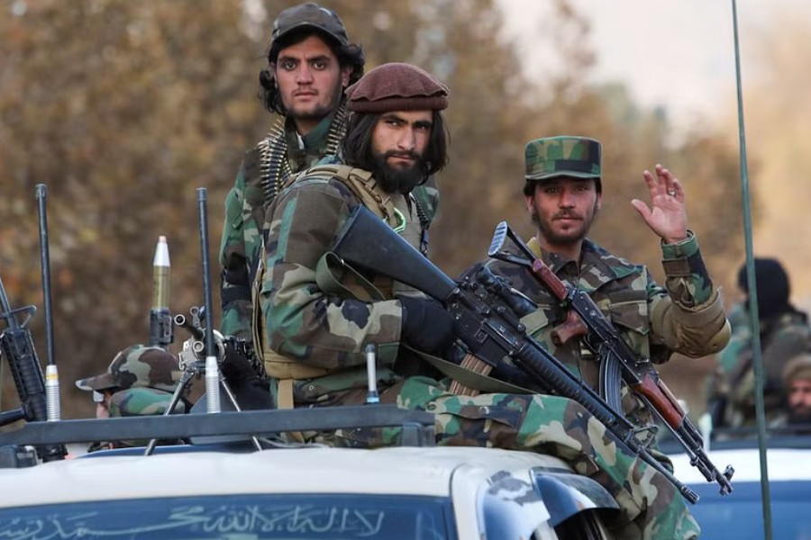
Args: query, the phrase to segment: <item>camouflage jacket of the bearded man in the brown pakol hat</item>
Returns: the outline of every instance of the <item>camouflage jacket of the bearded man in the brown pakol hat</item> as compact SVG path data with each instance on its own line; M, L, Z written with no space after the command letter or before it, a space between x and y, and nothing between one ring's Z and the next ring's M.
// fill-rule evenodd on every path
M399 234L418 247L421 227L414 201L410 195L384 195L405 217ZM264 267L255 284L261 311L258 322L264 334L257 336L263 343L255 345L263 351L266 366L269 352L275 352L305 374L288 377L295 380L296 404L342 401L342 392L366 388L362 348L368 344L378 347L381 390L397 380L391 368L399 354L402 306L393 298L413 295L415 290L388 278L364 275L383 299L377 300L363 298L350 273L336 277L346 290L325 292L323 282L316 280L316 266L360 203L342 180L313 172L296 178L267 212Z

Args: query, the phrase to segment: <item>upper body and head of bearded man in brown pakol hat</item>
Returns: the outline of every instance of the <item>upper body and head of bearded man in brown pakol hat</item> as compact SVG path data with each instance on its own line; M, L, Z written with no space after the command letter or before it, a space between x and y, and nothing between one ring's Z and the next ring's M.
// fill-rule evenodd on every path
M271 391L279 406L343 401L365 388L364 345L378 346L382 389L396 381L401 341L437 352L452 338L442 307L412 298L416 292L403 284L383 280L378 288L387 300L360 302L323 291L316 279L319 261L358 204L419 248L414 190L447 162L448 88L420 67L376 67L346 95L350 116L340 162L291 179L265 217L254 345L275 378ZM279 381L286 389L281 395Z

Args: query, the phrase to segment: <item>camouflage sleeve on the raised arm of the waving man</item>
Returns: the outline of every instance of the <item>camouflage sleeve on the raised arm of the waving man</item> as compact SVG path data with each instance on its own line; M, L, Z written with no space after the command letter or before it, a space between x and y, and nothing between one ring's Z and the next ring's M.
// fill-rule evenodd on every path
M676 244L662 244L665 293L648 282L654 336L685 356L716 354L729 342L724 303L710 279L692 231Z

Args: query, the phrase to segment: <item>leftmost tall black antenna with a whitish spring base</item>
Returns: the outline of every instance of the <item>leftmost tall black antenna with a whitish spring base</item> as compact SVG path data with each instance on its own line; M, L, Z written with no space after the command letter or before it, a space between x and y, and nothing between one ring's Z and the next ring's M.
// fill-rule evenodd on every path
M61 418L59 404L59 372L53 346L53 311L50 302L50 254L48 250L48 213L45 207L47 188L37 184L37 212L40 217L40 263L42 267L42 303L45 307L45 409L49 422Z

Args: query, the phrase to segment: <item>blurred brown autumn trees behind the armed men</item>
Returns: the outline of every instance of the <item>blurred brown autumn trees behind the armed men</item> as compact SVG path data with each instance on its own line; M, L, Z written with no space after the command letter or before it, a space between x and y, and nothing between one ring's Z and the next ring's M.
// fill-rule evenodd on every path
M93 414L77 378L148 341L159 235L169 239L172 311L202 304L198 187L207 189L219 283L224 197L242 152L269 128L257 75L270 24L292 4L0 0L0 274L15 307L41 307L34 192L47 184L64 418ZM588 22L565 0L554 2L548 22L565 69L543 85L528 82L514 43L501 37L495 0L322 4L364 46L367 69L408 61L451 87L451 165L439 178L442 208L432 228L433 258L447 273L485 257L500 220L532 235L521 195L524 142L583 134L604 147L604 209L593 238L661 279L658 242L629 203L647 199L642 170L661 162L686 186L690 227L711 272L732 286L727 276L743 259L743 243L729 241L742 228L731 128L702 126L672 143L665 111L633 103L622 85L586 85L596 52ZM32 331L44 363L42 311ZM178 329L175 347L185 338ZM708 364L679 365L688 367L667 368L671 387L695 391L689 379ZM17 398L3 369L8 410Z

